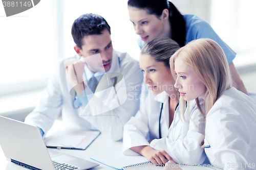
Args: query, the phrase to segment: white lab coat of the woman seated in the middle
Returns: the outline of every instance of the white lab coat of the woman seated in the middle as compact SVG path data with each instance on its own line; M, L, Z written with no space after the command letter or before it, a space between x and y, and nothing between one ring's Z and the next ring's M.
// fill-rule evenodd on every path
M154 95L151 90L144 87L141 92L140 110L124 125L123 154L138 155L130 148L150 145L155 150L165 150L177 163L203 163L205 153L200 144L204 139L205 119L197 109L195 101L190 102L187 107L190 108L191 118L197 126L189 119L187 112L185 120L182 117L182 122L178 107L169 127L168 94L164 91ZM146 94L147 98L143 98ZM162 103L160 120L162 138L159 139L159 116ZM150 139L154 140L149 143Z

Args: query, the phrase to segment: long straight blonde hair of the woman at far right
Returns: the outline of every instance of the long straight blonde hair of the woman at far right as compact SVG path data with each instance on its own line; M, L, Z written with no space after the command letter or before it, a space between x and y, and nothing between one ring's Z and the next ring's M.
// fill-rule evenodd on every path
M214 40L202 38L189 42L180 48L170 58L170 68L174 75L174 63L179 57L184 63L191 66L196 76L206 86L203 108L199 99L196 99L197 107L206 117L207 113L223 92L232 87L232 79L228 62L221 46ZM181 114L184 116L185 100L180 98Z

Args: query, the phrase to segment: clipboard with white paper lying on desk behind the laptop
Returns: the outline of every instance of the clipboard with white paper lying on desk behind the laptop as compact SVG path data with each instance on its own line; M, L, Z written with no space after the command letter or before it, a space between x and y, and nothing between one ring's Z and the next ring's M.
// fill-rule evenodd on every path
M99 134L99 131L57 131L45 138L45 143L48 148L86 150Z

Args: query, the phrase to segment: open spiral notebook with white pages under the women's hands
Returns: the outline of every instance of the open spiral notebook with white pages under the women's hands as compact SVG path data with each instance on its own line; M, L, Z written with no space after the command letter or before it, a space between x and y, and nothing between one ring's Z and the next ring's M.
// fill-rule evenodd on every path
M114 169L118 170L143 170L143 169L156 169L160 170L164 168L164 165L154 165L150 161L148 161L145 157L141 155L136 155L136 156L124 156L122 154L122 151L119 152L113 152L113 153L108 153L108 154L103 154L103 155L97 155L91 157L92 160L95 160L101 164L104 164L106 166L110 166ZM193 169L207 169L207 170L214 170L214 169L220 169L217 167L209 166L207 165L179 165L180 168L184 170L188 170L191 168Z

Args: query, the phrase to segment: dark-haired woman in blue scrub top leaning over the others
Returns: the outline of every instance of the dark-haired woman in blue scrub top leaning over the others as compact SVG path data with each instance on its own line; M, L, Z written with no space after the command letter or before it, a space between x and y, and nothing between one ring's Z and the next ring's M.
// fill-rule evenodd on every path
M136 34L140 36L138 39L140 48L159 37L172 38L181 47L194 39L210 38L222 47L237 89L248 95L232 62L236 53L221 40L206 21L196 15L182 15L171 2L166 0L129 0L127 4L130 20L133 22Z

